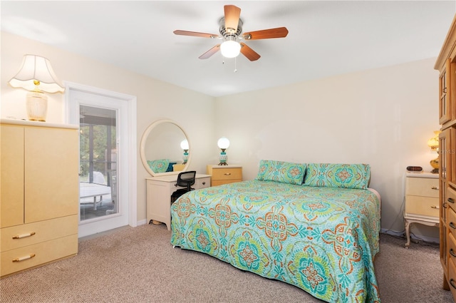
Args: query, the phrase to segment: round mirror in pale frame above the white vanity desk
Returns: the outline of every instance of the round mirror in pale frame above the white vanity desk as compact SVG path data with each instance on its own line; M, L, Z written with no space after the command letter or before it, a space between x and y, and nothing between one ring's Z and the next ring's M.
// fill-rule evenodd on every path
M140 155L145 170L155 177L187 170L192 154L188 136L180 125L172 120L157 120L142 135Z

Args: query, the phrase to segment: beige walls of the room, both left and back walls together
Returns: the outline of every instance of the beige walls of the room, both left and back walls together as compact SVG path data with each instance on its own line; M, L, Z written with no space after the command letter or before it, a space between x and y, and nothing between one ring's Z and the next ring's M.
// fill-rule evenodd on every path
M382 195L382 228L403 230L404 171L430 170L426 142L439 128L435 59L350 73L294 85L212 98L121 68L1 33L1 118L26 118L25 91L9 87L25 53L46 56L62 81L138 98L137 142L152 121L170 118L192 140L192 169L217 163L217 139L231 140L228 163L257 175L261 159L369 163L371 187ZM49 96L48 121L61 123L63 95ZM145 183L138 150L138 221L145 222ZM419 226L419 225L418 225ZM438 237L437 229L413 232Z

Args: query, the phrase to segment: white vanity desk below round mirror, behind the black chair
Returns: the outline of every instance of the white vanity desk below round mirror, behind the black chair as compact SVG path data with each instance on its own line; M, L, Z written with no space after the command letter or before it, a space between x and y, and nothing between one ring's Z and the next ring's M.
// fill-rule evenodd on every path
M165 223L167 230L171 230L171 195L182 187L176 185L177 175L164 175L146 178L147 186L147 222ZM192 188L209 188L210 175L197 174L195 185Z

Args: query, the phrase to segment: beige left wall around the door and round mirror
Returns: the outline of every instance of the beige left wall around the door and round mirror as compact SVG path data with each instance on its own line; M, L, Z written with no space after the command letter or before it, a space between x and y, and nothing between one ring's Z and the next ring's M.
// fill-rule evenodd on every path
M131 73L100 61L47 46L43 43L1 32L1 118L26 118L26 91L9 86L9 79L19 70L26 53L45 56L51 61L61 81L79 83L137 97L138 145L138 221L145 222L145 178L149 176L140 162L141 135L150 123L168 118L185 129L192 143L191 169L206 172L208 148L214 138L214 98L169 83ZM48 94L47 122L63 123L65 115L63 94Z

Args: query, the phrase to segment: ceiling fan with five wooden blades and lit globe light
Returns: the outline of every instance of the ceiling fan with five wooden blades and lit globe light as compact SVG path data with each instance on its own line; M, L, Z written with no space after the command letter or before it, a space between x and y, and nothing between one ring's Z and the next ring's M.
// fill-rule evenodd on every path
M263 29L261 31L250 31L242 34L242 19L241 9L234 5L224 6L224 17L219 21L219 33L220 34L206 34L199 33L196 31L173 31L176 35L182 36L196 36L202 38L219 38L224 41L220 44L209 49L209 51L199 56L200 59L207 59L217 51L222 52L222 56L227 58L234 58L242 53L250 61L256 61L260 58L259 54L252 48L247 46L244 42L238 42L238 40L259 40L268 38L284 38L288 34L286 27L278 27L276 29Z

